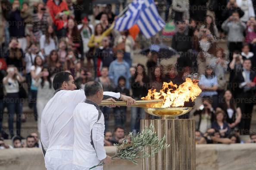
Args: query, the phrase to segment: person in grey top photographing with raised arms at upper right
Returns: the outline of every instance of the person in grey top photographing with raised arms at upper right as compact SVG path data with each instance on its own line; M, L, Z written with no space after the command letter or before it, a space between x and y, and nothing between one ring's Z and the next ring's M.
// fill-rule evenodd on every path
M246 29L246 25L239 18L238 12L233 12L232 15L224 21L222 24L222 29L225 30L228 40L228 50L229 50L229 60L232 60L232 53L235 50L241 52L243 41L244 41L244 30Z

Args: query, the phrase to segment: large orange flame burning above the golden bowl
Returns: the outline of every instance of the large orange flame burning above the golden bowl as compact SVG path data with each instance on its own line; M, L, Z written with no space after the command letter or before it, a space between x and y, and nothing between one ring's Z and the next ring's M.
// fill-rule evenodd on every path
M190 78L186 82L177 86L172 82L163 82L162 89L157 92L156 89L150 89L146 97L142 100L162 99L162 108L184 106L185 102L194 101L194 99L202 92L197 85L198 81L192 81ZM169 88L171 86L171 88ZM178 88L177 88L178 87Z

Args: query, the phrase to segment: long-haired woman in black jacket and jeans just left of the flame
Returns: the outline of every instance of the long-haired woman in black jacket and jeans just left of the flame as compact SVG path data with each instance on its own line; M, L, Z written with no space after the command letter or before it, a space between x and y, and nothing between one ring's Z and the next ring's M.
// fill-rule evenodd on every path
M132 97L140 100L141 97L147 96L150 79L146 75L144 65L137 64L135 74L131 77ZM145 117L145 111L140 107L131 107L131 131L136 134L140 128L140 119Z

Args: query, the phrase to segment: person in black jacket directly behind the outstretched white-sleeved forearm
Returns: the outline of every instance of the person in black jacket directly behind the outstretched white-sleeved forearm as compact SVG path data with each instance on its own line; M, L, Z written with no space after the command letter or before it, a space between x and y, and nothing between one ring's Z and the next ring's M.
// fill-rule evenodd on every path
M129 89L125 88L125 82L126 82L125 77L120 76L118 79L118 86L115 88L113 92L130 96ZM125 128L126 109L127 109L126 106L114 108L115 126L121 126Z

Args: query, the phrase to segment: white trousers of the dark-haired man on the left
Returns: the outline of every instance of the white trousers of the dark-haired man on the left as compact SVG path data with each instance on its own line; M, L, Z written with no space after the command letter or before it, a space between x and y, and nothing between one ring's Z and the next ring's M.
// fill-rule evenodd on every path
M72 170L73 151L51 150L44 157L47 170Z

